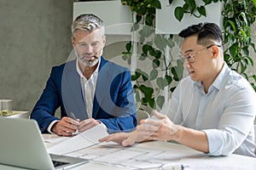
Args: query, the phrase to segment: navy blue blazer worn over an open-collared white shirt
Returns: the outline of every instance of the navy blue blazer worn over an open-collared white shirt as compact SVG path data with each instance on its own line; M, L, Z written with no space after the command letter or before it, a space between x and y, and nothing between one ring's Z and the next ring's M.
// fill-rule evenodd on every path
M86 108L76 70L76 60L52 68L44 92L34 106L31 118L38 122L42 133L49 123L71 112L81 121L87 119ZM108 127L108 133L131 131L137 125L136 105L131 87L130 71L101 58L93 101L92 117Z

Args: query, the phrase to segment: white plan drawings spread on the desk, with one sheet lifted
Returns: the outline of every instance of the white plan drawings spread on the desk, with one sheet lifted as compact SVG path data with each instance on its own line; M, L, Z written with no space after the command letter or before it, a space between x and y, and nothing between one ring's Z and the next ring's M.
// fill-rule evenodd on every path
M182 169L181 158L195 155L184 150L160 150L144 143L123 147L113 142L98 142L107 135L104 127L96 126L49 148L49 153L130 169Z

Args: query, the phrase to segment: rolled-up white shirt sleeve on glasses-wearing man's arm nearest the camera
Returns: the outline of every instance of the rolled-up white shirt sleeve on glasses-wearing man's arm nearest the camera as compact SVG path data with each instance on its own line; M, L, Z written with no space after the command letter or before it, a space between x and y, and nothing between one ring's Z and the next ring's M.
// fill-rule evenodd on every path
M224 113L220 117L218 128L203 130L207 134L209 155L212 156L228 156L239 147L250 153L255 147L252 143L253 135L250 134L256 111L255 94L248 88L239 88L230 94L232 95L224 100ZM237 153L243 154L241 150L237 150Z

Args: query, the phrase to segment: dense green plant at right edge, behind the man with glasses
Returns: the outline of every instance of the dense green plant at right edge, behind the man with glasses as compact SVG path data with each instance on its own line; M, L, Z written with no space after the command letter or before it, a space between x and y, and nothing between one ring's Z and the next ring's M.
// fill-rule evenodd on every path
M247 68L253 66L253 54L256 54L255 45L252 42L250 26L255 21L255 1L228 1L224 0L224 60L232 68L247 78L256 91L256 75L247 75Z

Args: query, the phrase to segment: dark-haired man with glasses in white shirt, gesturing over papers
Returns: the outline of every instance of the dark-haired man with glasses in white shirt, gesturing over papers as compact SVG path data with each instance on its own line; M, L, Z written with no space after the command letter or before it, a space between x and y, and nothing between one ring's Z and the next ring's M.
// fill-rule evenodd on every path
M189 26L183 37L183 66L189 71L172 93L166 112L143 120L131 133L101 139L131 145L175 140L212 156L254 154L256 95L250 83L224 62L223 38L213 23Z

